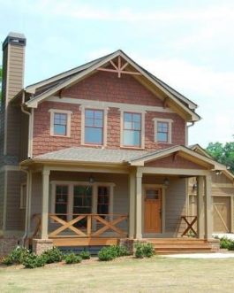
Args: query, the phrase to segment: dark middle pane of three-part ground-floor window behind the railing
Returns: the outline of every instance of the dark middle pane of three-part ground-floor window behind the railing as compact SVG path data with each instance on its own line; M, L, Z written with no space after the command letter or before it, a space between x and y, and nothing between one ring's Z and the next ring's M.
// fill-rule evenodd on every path
M92 213L93 187L88 185L75 185L73 189L73 213ZM74 215L76 218L77 215ZM87 219L79 220L77 227L87 227Z

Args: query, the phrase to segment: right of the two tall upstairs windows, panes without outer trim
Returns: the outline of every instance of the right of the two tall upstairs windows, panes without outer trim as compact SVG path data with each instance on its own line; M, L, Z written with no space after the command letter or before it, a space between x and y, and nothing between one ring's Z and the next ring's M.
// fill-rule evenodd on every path
M138 147L141 145L141 114L124 112L123 145Z

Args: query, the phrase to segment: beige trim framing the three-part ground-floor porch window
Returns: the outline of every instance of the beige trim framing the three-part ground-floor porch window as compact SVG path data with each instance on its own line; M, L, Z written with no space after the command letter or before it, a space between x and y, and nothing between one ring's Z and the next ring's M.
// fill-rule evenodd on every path
M56 209L56 186L57 185L66 185L68 186L68 201L67 201L67 213L70 213L71 216L68 217L68 220L72 220L73 213L73 195L74 195L74 186L75 185L86 185L93 187L93 197L92 197L92 212L97 213L97 190L98 186L109 187L109 213L113 213L114 208L114 188L116 186L113 182L94 182L90 183L88 181L50 181L51 184L51 213L55 213ZM71 219L70 219L71 218ZM112 219L110 219L112 220ZM51 220L53 223L54 221Z

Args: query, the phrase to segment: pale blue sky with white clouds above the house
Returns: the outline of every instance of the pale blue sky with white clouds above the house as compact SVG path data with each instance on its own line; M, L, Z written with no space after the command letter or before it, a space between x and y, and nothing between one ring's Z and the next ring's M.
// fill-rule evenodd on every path
M0 40L26 35L25 85L122 49L199 104L189 143L234 134L234 2L0 0Z

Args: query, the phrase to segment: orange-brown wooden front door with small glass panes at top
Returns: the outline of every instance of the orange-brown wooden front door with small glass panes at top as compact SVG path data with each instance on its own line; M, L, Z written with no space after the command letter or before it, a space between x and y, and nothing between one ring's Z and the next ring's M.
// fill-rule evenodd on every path
M162 189L145 188L145 233L162 232Z

